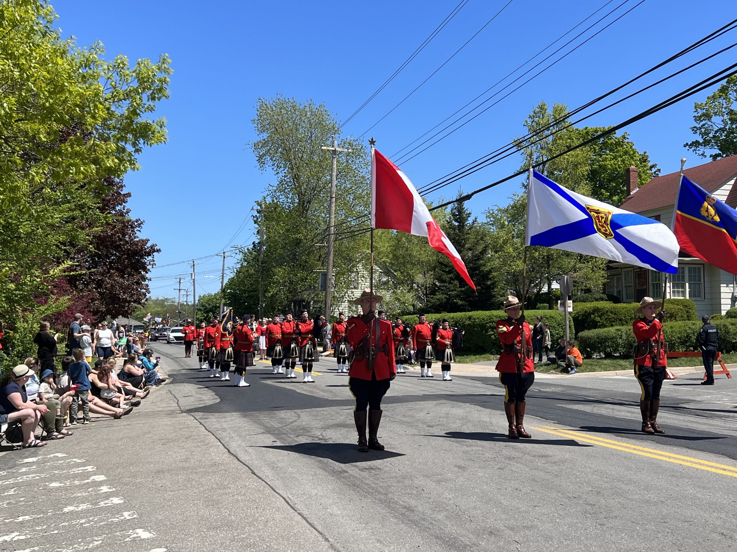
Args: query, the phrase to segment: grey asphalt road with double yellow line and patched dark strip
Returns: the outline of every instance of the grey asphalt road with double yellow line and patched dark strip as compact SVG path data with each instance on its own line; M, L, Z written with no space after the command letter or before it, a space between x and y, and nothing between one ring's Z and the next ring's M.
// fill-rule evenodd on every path
M386 450L358 453L348 377L335 363L316 364L315 383L259 364L250 387L234 388L181 358L181 346L153 347L172 380L135 417L0 458L0 550L736 548L737 383L724 376L710 388L695 374L666 382L665 436L638 432L632 378L540 376L525 417L533 439L520 441L506 439L496 378L399 376L383 403ZM56 451L69 458L50 458ZM39 475L84 481L51 465L73 458L105 467L119 489L106 499L125 506L104 507L124 519L80 522L69 510L83 500L75 493L59 494L46 477L18 479L46 463ZM43 520L19 519L34 505ZM74 531L58 532L64 523Z

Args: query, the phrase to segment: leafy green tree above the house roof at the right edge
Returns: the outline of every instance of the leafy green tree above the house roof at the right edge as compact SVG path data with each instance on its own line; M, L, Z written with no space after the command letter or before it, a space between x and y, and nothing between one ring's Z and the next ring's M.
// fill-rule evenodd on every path
M702 158L710 150L713 161L737 154L737 110L733 105L737 100L737 75L732 75L719 86L714 93L707 96L705 102L694 105L694 122L691 132L699 136L699 140L683 144Z

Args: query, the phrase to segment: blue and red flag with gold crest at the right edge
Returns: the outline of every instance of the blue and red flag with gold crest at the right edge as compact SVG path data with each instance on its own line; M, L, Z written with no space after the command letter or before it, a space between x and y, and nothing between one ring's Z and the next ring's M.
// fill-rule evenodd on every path
M682 176L673 232L683 252L737 274L737 211Z

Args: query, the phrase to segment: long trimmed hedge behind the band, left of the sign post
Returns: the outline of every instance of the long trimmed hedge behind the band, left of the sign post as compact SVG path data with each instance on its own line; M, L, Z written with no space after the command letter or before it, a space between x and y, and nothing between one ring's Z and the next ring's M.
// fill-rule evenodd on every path
M450 325L466 330L464 334L463 350L467 353L490 353L498 355L502 351L501 342L497 337L496 323L498 319L506 318L504 311L471 311L459 313L427 314L427 322L440 322L447 318ZM548 322L551 328L553 345L565 336L565 318L560 311L525 311L525 319L532 325L535 316L542 316L542 322ZM416 315L402 316L402 320L415 325L418 322ZM570 319L570 335L574 335L573 319ZM554 348L554 347L553 347Z

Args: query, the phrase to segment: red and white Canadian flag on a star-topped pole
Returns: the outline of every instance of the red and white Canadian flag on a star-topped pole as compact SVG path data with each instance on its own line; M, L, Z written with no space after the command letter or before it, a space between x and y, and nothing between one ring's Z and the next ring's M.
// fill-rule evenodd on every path
M427 237L430 247L447 256L476 291L461 255L435 222L410 179L376 149L371 153L371 227Z

